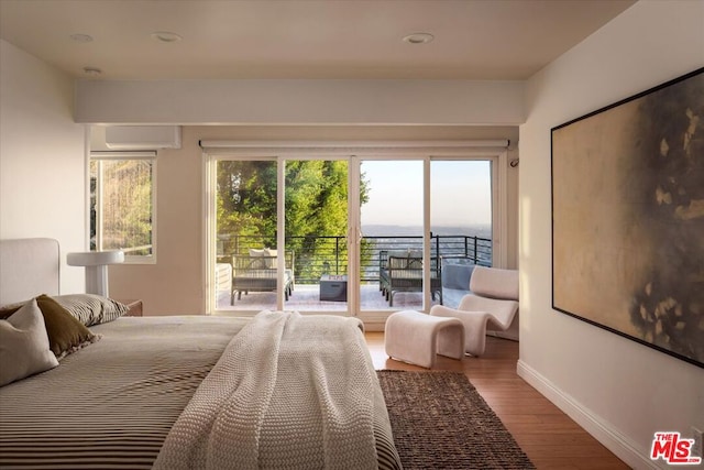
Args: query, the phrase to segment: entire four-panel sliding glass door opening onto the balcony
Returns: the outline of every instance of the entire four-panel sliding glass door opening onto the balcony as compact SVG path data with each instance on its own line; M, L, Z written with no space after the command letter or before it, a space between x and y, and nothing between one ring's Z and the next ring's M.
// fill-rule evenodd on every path
M457 306L494 258L495 161L396 153L208 155L209 311Z

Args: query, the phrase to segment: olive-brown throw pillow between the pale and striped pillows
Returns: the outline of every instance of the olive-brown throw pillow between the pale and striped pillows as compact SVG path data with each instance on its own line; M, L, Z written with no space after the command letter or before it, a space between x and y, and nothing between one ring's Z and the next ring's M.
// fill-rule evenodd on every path
M58 359L100 339L52 297L42 294L36 304L44 316L50 349Z

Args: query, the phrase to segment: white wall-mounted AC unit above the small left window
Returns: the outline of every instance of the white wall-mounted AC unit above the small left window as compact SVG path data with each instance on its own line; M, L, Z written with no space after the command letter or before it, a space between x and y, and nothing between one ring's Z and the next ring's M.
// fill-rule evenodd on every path
M179 125L110 125L106 145L111 150L180 149Z

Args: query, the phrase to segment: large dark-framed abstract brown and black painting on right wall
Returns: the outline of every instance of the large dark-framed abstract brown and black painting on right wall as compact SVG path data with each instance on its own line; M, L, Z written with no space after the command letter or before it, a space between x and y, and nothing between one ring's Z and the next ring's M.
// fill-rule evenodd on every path
M704 368L704 68L551 129L552 308Z

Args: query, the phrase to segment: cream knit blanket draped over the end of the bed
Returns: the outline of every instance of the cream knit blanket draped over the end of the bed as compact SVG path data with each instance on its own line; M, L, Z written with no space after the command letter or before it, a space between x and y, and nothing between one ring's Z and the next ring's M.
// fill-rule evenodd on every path
M355 318L262 311L169 431L155 469L376 469L378 382Z

